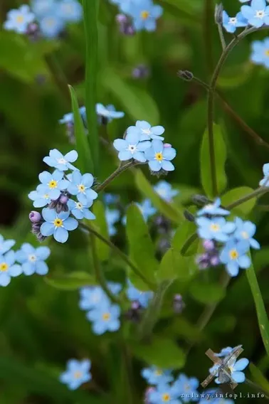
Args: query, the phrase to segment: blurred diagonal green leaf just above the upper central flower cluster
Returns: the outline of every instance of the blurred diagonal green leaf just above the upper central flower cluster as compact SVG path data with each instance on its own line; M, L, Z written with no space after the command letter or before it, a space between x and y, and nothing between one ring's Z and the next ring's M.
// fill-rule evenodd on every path
M110 68L102 73L102 84L117 97L122 109L124 108L132 119L144 119L152 125L159 124L157 105L148 92L126 83Z

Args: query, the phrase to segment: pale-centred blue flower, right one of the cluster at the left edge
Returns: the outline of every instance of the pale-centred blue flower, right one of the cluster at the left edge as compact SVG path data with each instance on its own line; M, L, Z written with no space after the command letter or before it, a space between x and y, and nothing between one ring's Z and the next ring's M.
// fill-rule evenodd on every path
M21 250L16 252L16 260L20 262L21 268L25 275L46 275L48 273L48 265L44 262L51 250L48 247L33 248L31 244L24 243Z

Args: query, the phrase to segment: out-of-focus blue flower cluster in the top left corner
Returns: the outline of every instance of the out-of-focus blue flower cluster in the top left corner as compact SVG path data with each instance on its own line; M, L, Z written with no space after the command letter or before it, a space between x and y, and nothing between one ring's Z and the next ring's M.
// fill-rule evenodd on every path
M31 7L23 5L10 10L4 28L36 38L56 38L67 23L78 22L83 9L77 0L32 0Z

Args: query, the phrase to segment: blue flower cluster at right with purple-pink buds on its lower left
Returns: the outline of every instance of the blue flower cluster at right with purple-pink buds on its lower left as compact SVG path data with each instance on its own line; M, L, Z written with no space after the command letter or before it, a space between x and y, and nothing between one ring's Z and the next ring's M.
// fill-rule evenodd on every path
M239 268L250 267L248 251L251 248L259 249L258 241L253 238L256 226L249 220L243 221L235 218L227 222L223 216L228 211L221 208L219 198L212 204L204 206L198 213L196 224L197 233L204 239L204 254L197 257L197 263L201 269L216 266L219 263L225 265L231 277L238 275Z

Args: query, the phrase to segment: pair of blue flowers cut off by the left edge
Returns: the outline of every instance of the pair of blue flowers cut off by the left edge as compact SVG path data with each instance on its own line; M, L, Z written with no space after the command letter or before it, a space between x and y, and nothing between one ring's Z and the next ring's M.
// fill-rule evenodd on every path
M51 254L48 247L34 248L31 244L24 243L18 251L11 250L15 240L4 240L0 235L0 286L7 286L11 277L21 274L46 275L48 265L45 260Z

